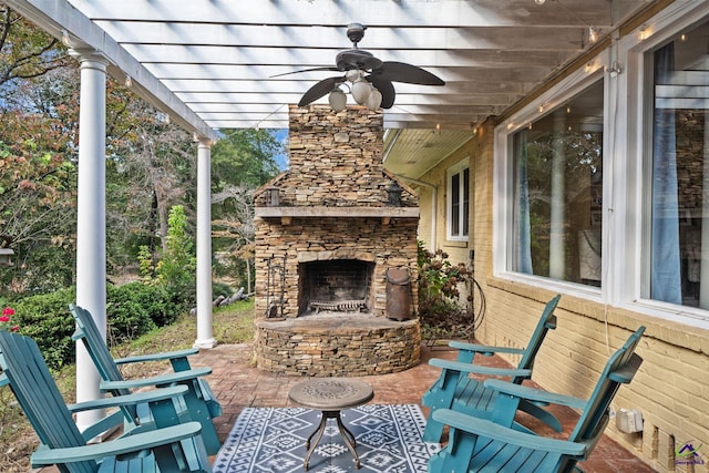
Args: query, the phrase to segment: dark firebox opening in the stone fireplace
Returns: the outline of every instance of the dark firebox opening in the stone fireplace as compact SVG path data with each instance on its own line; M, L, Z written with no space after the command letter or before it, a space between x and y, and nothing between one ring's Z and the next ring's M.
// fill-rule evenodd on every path
M370 312L374 264L332 259L298 265L300 315Z

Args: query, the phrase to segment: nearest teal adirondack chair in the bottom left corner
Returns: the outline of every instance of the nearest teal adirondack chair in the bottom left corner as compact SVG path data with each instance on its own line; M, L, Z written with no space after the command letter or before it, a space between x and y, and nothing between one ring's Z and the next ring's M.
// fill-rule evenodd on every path
M66 405L34 340L4 330L0 330L0 385L10 385L41 442L31 455L32 467L56 465L62 473L212 471L199 436L202 426L198 422L181 423L177 413L185 387ZM136 403L147 405L156 422L103 443L88 442L120 425L121 411L84 432L72 419L72 412Z

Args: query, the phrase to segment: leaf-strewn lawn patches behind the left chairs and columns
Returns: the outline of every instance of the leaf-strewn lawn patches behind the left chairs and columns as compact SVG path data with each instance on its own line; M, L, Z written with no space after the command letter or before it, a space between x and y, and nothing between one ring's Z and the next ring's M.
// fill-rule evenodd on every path
M223 345L243 343L254 339L254 302L239 301L215 308L213 312L214 338ZM135 340L112 347L114 357L189 348L197 338L196 319L184 315L174 323L161 327ZM145 377L165 370L164 364L151 363L140 368ZM134 369L137 373L138 369ZM134 373L125 371L126 378ZM66 366L54 372L54 379L68 403L75 401L76 367ZM38 445L37 435L24 418L9 388L0 388L0 472L30 471L29 456Z

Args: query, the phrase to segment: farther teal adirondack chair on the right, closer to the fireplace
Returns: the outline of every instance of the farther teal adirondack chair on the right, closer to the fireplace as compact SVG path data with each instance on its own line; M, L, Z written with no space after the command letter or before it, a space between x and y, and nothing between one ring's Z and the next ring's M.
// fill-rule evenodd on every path
M510 377L515 384L521 384L522 381L532 377L534 358L540 351L548 330L556 328L554 310L561 297L561 295L557 295L546 304L536 329L524 349L451 341L449 346L459 350L455 361L438 358L429 360L429 364L441 368L441 374L435 383L423 394L421 401L423 405L430 408L429 419L423 431L423 440L425 442L439 442L441 440L443 424L433 418L433 413L439 409L452 409L483 419L490 418L497 393L485 388L482 381L471 378L471 373ZM475 364L475 354L491 357L495 353L521 354L522 359L516 369L490 368ZM536 403L525 401L520 409L561 432L561 422ZM520 424L515 424L515 429L528 432L526 428Z

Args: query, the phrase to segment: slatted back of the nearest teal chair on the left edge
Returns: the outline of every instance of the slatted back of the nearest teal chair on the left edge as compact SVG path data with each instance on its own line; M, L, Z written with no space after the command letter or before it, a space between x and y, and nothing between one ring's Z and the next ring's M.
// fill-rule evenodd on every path
M34 340L0 330L0 367L44 445L54 449L85 444ZM99 470L93 461L56 466L62 473L90 473Z

